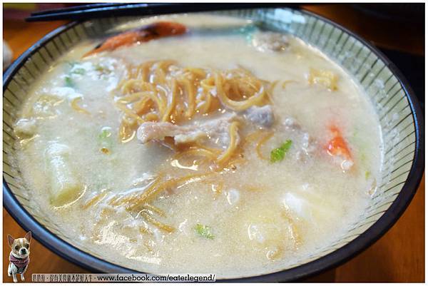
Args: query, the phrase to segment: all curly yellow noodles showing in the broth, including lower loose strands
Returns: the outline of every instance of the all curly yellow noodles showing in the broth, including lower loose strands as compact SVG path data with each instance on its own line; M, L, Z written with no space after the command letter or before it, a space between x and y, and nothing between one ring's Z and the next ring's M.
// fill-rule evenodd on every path
M139 66L128 66L125 77L114 93L114 102L117 108L123 111L120 139L123 143L131 141L136 136L138 126L148 121L180 125L198 116L210 116L223 109L240 112L252 106L263 106L270 103L268 93L274 84L255 77L244 68L227 71L183 68L175 61L148 61ZM165 189L203 180L215 175L216 170L228 166L234 168L235 163L243 161L243 154L236 154L240 150L240 143L250 143L250 140L239 140L240 126L242 123L238 120L230 123L229 144L225 150L203 145L199 141L175 146L168 140L170 138L165 138L164 143L178 151L173 159L202 157L220 168L211 168L206 173L185 175L172 180L165 180L166 176L161 172L145 192L116 197L110 201L111 205L127 205L128 210L141 208L141 205L150 206L148 201L156 198L156 195ZM151 212L153 210L146 210L146 213L141 215L146 217ZM173 230L152 220L153 218L151 223L163 230Z

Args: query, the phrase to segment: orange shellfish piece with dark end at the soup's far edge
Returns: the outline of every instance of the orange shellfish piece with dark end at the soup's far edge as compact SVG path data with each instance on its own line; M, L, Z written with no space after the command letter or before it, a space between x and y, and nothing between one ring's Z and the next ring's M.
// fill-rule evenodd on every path
M86 53L84 57L91 56L101 51L114 51L121 46L130 46L137 42L151 41L167 36L176 36L184 34L187 31L183 24L168 21L159 21L148 26L143 26L131 31L125 31L116 36L106 39L98 44L93 50Z

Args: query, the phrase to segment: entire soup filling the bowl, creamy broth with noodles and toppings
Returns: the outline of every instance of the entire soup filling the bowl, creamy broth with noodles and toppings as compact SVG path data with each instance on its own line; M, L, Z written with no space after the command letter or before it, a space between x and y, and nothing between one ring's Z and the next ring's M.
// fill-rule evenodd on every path
M382 162L352 78L242 19L118 29L148 23L74 46L29 92L14 161L46 219L110 262L218 278L291 267L345 235Z

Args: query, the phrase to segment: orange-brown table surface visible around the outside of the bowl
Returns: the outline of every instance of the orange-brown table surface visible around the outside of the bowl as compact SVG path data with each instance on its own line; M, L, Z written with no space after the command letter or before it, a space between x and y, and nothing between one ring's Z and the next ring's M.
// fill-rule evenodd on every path
M342 24L365 39L374 41L378 46L424 55L423 34L420 38L416 33L417 29L409 29L405 24L391 27L384 21L377 23L376 19L362 21L365 15L354 11L349 5L306 5L304 8ZM4 39L14 51L14 58L17 58L42 36L63 23L56 21L28 24L24 21L6 21L3 28ZM377 29L372 29L373 25ZM392 34L391 31L395 32ZM400 35L400 41L395 41L397 35ZM374 245L344 265L307 281L424 282L424 186L423 178L404 215ZM10 247L7 245L6 234L22 238L25 232L6 210L3 212L3 232L3 265L8 265ZM3 268L4 282L10 282L7 267ZM31 242L31 265L27 271L26 281L32 273L84 272L87 271L63 260L36 240Z

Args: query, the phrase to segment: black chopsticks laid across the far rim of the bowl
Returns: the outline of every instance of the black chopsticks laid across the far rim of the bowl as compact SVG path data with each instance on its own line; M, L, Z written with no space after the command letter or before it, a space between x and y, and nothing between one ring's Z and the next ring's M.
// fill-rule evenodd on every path
M105 18L111 16L149 16L201 11L255 9L275 7L297 8L299 4L281 3L184 3L184 4L89 4L67 9L55 9L31 14L26 21L56 21Z

